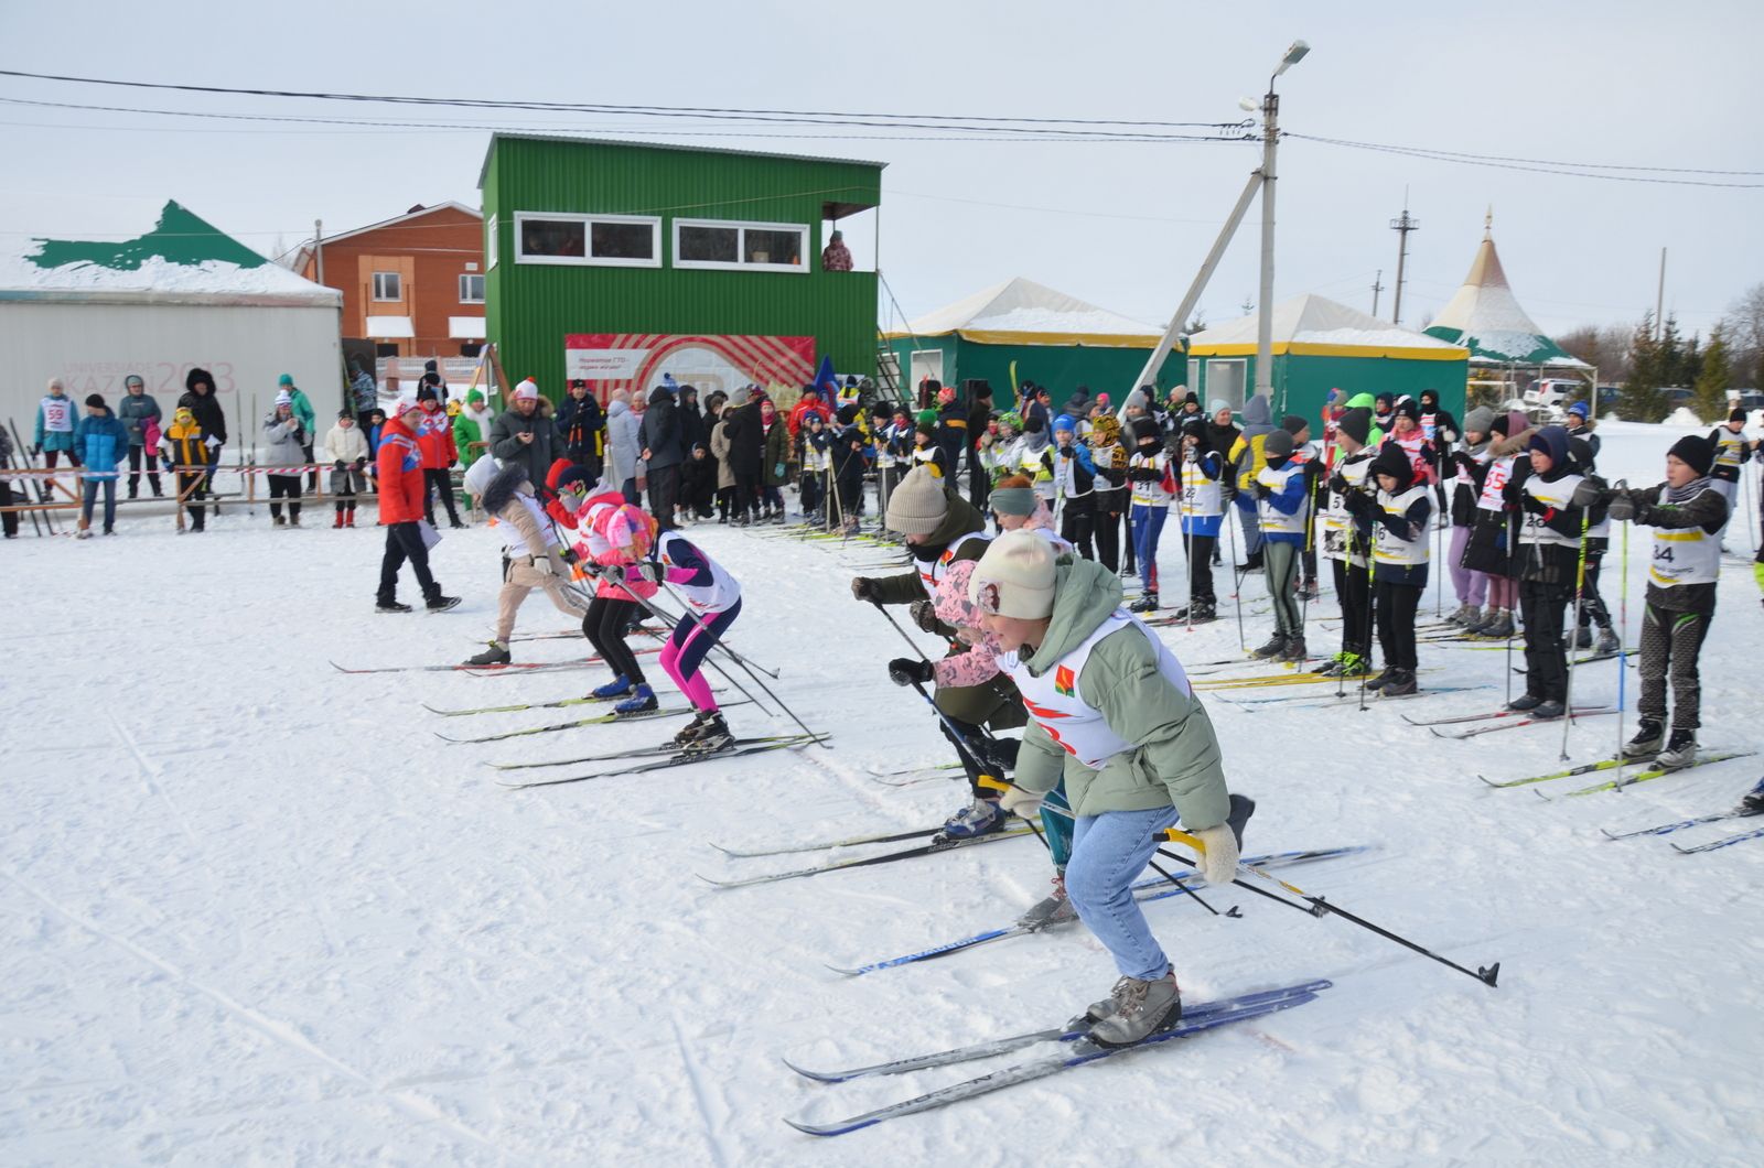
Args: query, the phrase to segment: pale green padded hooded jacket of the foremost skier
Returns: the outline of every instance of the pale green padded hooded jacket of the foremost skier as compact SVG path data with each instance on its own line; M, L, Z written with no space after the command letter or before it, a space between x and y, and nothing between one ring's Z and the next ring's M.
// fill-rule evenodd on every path
M1046 676L1118 607L1120 579L1113 572L1090 559L1060 558L1053 621L1034 653L1025 646L1016 655L1020 667ZM1157 665L1154 639L1138 621L1095 642L1078 674L1078 692L1132 748L1090 769L1032 718L1016 759L1016 785L1046 794L1064 780L1065 799L1080 817L1175 806L1189 831L1222 824L1230 792L1212 720L1185 679L1171 683Z

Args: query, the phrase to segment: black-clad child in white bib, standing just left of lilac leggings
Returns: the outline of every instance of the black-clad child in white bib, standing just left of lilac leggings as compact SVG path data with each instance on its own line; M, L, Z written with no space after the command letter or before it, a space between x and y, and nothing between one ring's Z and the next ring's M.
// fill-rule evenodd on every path
M1427 483L1415 480L1415 464L1394 443L1385 443L1367 468L1378 494L1348 494L1348 512L1360 538L1372 547L1376 580L1378 648L1385 672L1365 683L1385 697L1416 692L1415 610L1427 589L1427 520L1432 499Z

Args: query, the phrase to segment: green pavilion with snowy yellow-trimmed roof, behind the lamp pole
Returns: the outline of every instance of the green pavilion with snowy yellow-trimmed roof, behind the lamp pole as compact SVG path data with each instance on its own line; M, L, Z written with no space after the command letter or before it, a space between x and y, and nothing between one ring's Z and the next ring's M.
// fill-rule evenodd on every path
M1399 328L1323 296L1274 305L1274 416L1318 418L1330 390L1420 399L1464 416L1469 349ZM1256 386L1256 316L1189 337L1189 388L1201 402L1222 399L1242 411Z

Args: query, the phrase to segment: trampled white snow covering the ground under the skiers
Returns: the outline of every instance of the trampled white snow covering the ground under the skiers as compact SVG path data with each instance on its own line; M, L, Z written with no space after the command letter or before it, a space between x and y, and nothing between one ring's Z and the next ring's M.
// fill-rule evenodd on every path
M1602 434L1602 469L1630 482L1656 482L1676 438ZM884 552L697 529L746 586L734 644L783 670L773 688L831 750L512 792L483 762L646 745L679 722L457 746L434 732L593 711L437 718L422 702L549 700L603 674L328 663L469 655L494 612L492 533L437 549L460 609L386 618L374 529L272 531L261 512L205 536L168 517L120 529L0 547L4 1163L1764 1161L1764 842L1679 856L1598 831L1725 808L1764 759L1582 799L1533 794L1570 783L1491 790L1476 773L1552 769L1561 730L1441 741L1399 715L1492 709L1505 653L1424 646L1424 685L1485 688L1365 713L1208 699L1233 787L1259 799L1245 850L1374 845L1291 879L1461 963L1501 962L1499 988L1237 889L1203 895L1240 917L1170 898L1148 916L1191 1002L1335 986L820 1142L781 1117L836 1119L974 1071L827 1087L781 1057L852 1064L1057 1025L1115 979L1081 928L866 977L826 969L1009 923L1050 875L1032 840L762 887L695 879L818 859L730 859L713 840L919 827L958 805L954 782L868 775L947 757L921 700L887 683L900 637L847 591ZM1752 547L1743 529L1730 543ZM1644 563L1637 531L1632 642ZM1178 540L1162 568L1180 579ZM1259 591L1252 577L1245 596ZM531 602L527 632L561 626ZM1267 626L1249 618L1249 635ZM1312 644L1332 630L1314 621ZM1760 633L1736 556L1704 653L1709 748L1764 748ZM1238 651L1230 609L1164 637L1191 662ZM1577 693L1614 699L1616 670L1586 667ZM1635 692L1632 676L1630 729ZM748 706L730 718L789 729ZM1593 718L1568 750L1591 760L1616 737L1616 718Z

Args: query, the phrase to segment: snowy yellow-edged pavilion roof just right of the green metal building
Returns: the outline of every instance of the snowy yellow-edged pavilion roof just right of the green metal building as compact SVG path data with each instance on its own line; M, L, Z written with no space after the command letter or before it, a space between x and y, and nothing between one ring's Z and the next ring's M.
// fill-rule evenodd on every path
M1099 309L1023 277L981 289L928 312L893 337L947 337L981 344L1094 344L1150 349L1162 333L1143 321Z

